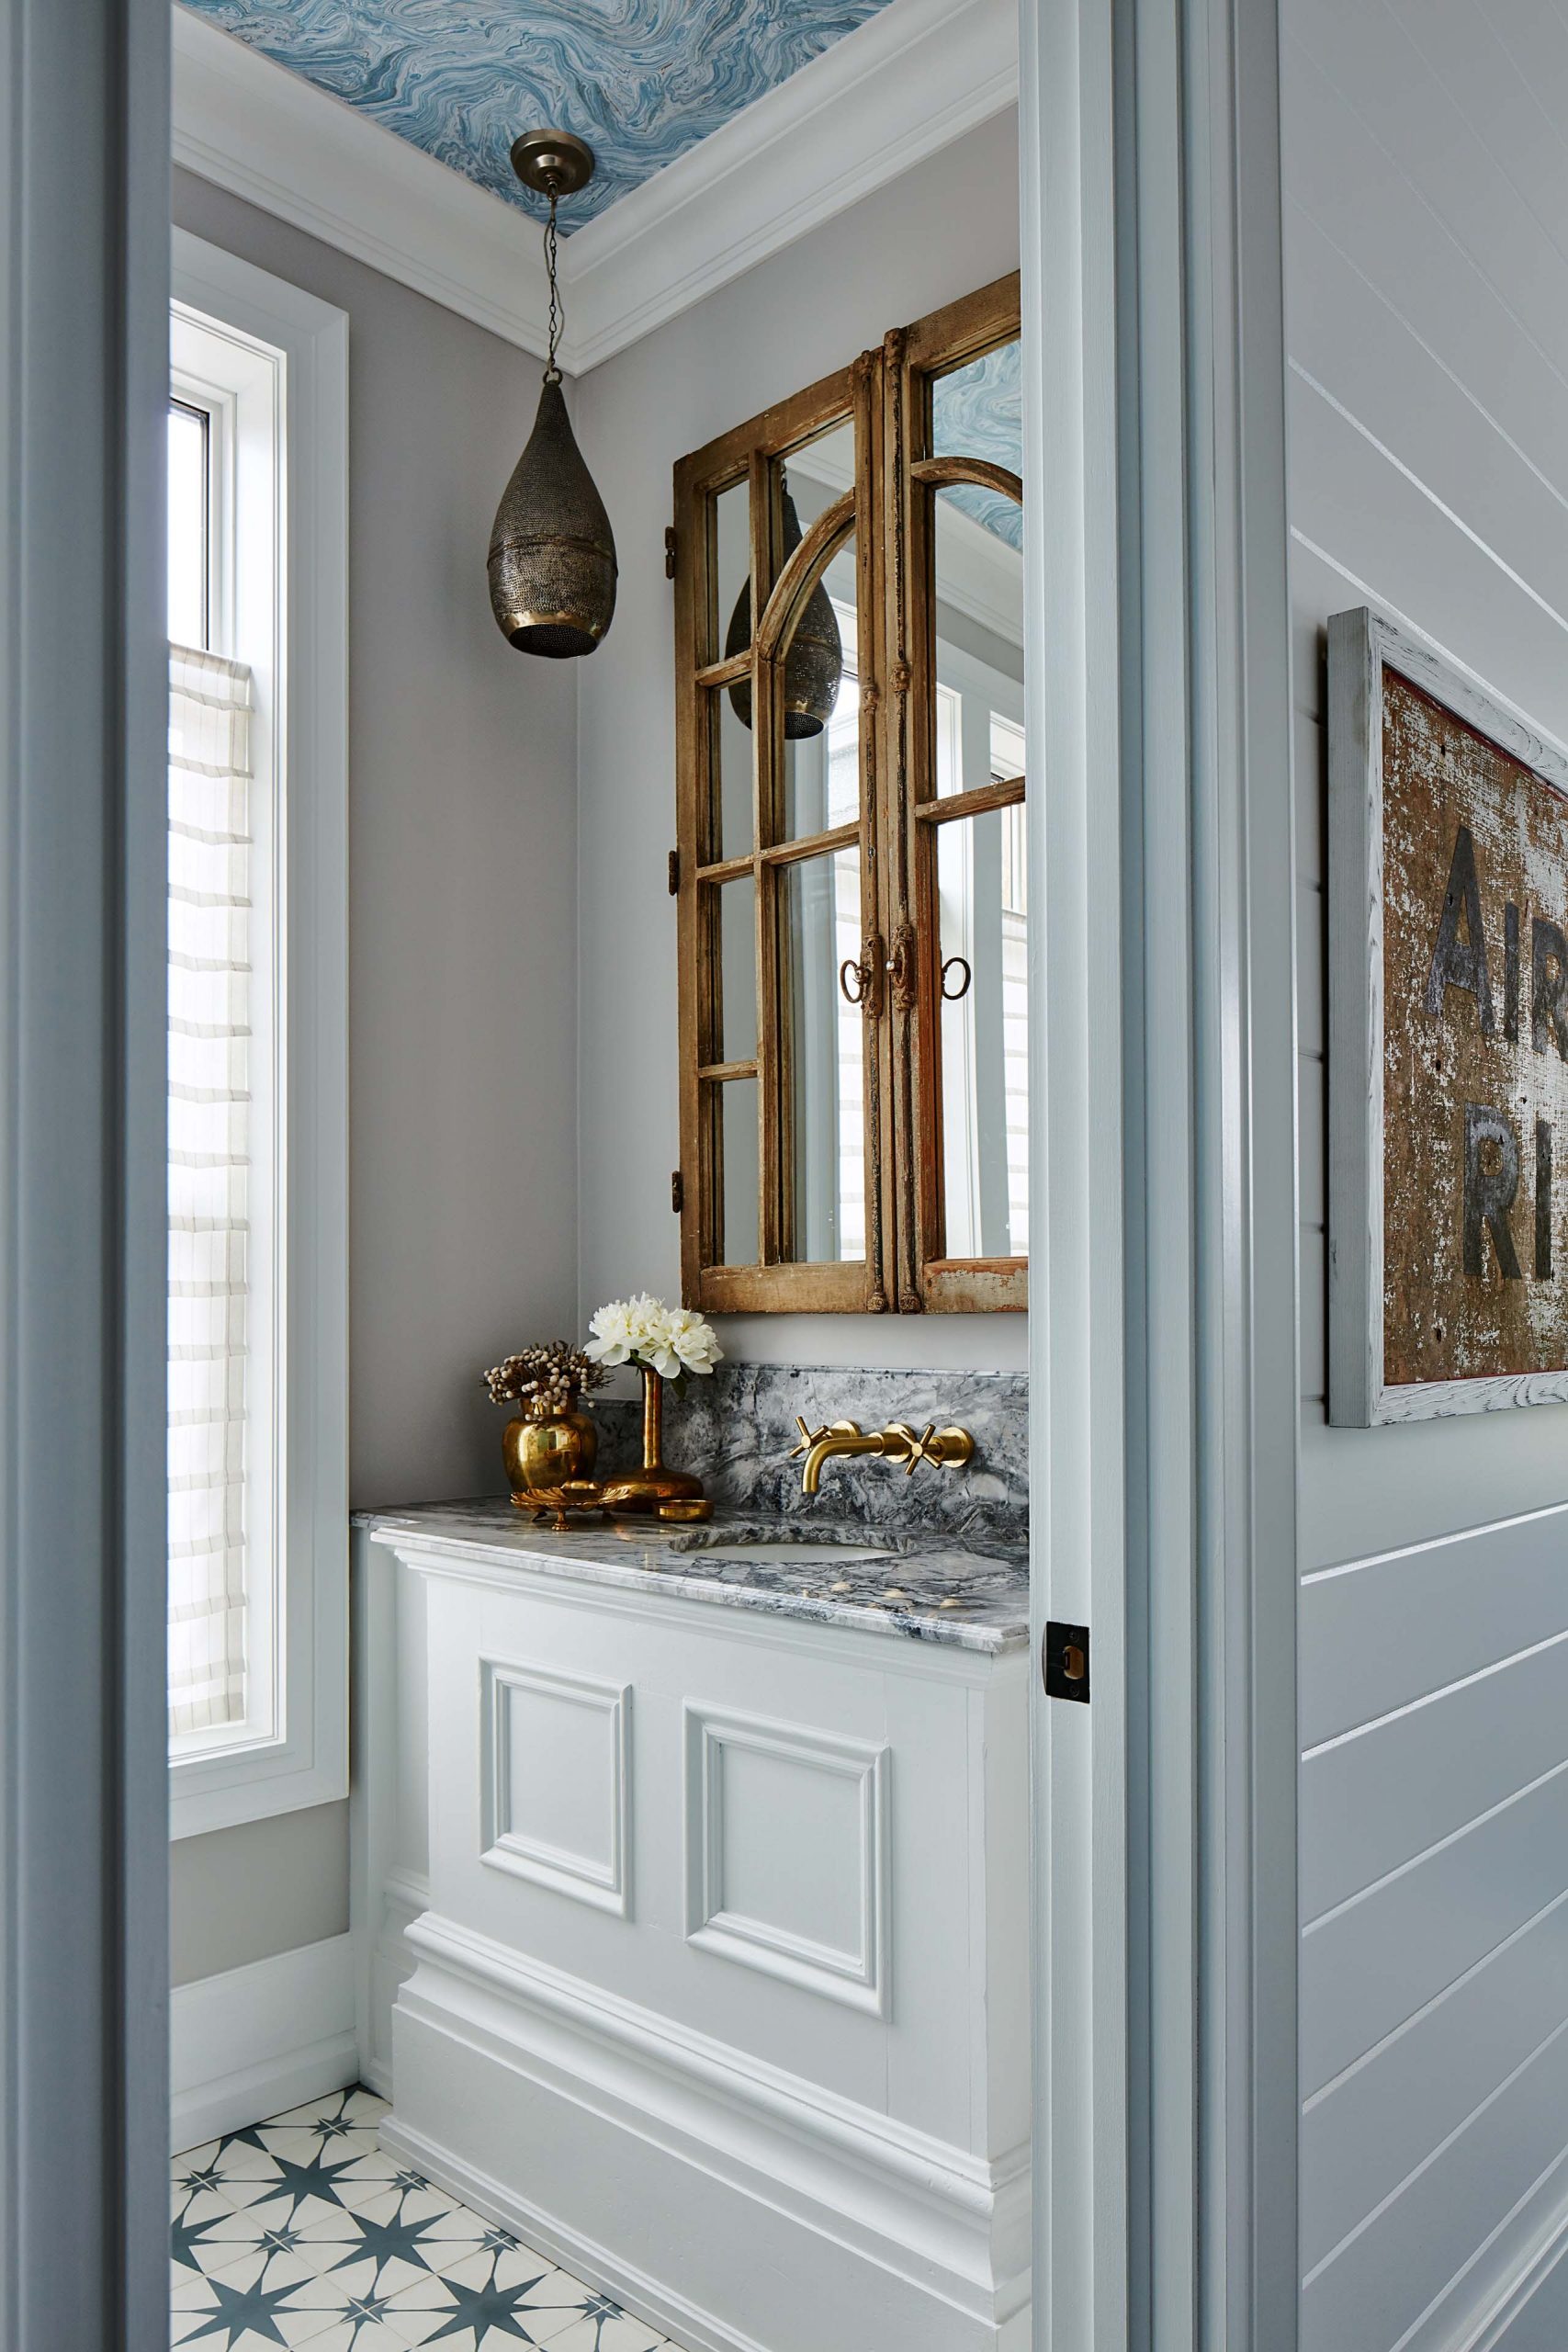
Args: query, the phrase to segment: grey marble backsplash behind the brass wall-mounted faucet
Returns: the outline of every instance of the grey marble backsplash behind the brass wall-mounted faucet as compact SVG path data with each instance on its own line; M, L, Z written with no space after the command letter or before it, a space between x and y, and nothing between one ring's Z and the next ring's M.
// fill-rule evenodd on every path
M924 1430L957 1423L976 1442L961 1470L922 1463L905 1475L875 1456L830 1461L816 1501L799 1491L795 1416L809 1428L858 1421L882 1430L907 1421ZM639 1406L595 1399L599 1475L637 1461ZM689 1381L686 1395L665 1388L665 1461L696 1470L715 1503L748 1510L809 1512L870 1526L910 1526L961 1536L971 1543L1025 1543L1030 1531L1030 1381L1023 1371L896 1371L825 1364L719 1364L710 1378Z

